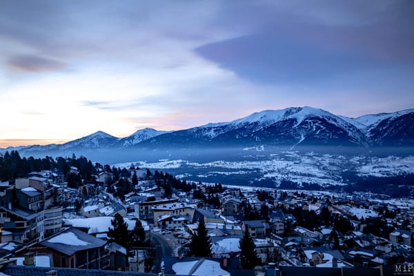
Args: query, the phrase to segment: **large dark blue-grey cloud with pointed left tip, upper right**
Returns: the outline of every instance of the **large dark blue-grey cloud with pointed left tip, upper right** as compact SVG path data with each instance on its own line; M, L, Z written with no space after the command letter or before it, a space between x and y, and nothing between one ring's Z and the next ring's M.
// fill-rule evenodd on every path
M257 83L315 83L356 71L389 73L390 67L395 75L414 73L413 1L333 2L313 1L319 11L297 1L266 6L268 12L261 6L250 33L206 43L195 52Z

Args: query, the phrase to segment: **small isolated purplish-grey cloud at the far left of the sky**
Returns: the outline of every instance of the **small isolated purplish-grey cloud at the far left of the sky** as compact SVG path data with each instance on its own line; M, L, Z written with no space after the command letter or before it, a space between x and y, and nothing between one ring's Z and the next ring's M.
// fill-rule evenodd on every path
M35 55L12 57L8 60L7 64L10 70L17 70L19 72L58 71L68 66L65 62Z

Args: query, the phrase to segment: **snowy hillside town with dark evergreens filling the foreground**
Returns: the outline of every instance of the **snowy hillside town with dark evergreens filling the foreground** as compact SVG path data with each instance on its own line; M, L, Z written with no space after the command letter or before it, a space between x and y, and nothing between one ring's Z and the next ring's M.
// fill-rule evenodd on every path
M0 169L0 275L413 273L413 199L192 183L75 155L6 152Z

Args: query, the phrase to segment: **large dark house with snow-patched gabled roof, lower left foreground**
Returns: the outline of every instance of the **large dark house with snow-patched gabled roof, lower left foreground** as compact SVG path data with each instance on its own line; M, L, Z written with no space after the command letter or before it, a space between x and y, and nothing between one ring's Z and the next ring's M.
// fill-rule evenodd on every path
M37 244L21 250L19 254L36 252L51 254L57 267L105 269L109 268L106 242L76 228L68 228Z

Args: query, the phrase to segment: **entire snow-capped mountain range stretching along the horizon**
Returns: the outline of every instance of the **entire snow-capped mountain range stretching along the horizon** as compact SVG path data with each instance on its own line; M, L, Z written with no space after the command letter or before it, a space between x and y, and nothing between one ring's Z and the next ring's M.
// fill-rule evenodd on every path
M176 131L152 128L118 138L95 132L65 144L19 146L5 150L79 152L79 150L221 148L228 146L340 146L357 148L414 146L414 109L349 118L308 106L264 110L235 121ZM0 151L0 152L1 152Z

